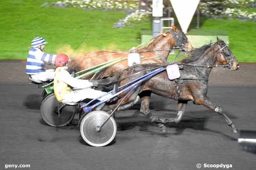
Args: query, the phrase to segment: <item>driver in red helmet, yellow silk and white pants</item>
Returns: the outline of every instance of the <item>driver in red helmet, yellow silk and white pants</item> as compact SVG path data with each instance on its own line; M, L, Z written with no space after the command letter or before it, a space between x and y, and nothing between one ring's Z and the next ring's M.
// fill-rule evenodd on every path
M106 92L94 90L91 86L98 86L97 81L75 79L67 71L67 62L69 57L65 54L59 54L55 58L55 66L58 66L55 70L54 76L54 94L59 102L79 102L83 99L95 99L100 95L106 94ZM79 90L72 90L70 87L77 88ZM111 94L105 95L98 100L102 101Z

